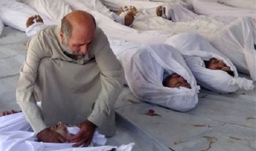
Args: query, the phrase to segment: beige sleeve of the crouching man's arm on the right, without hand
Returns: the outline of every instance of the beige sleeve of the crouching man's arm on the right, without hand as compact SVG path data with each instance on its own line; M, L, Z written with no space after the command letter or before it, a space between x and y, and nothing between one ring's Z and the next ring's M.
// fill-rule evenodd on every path
M95 59L101 71L102 88L88 120L101 129L106 125L110 113L114 112L114 104L123 88L124 73L104 32L100 32L98 37L100 39L97 44L100 44L100 47L95 52ZM113 135L113 133L105 135Z

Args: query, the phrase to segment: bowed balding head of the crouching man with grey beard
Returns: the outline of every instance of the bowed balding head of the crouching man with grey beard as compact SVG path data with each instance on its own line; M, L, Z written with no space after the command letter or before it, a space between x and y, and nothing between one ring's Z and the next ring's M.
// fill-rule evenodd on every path
M87 53L94 39L96 22L94 17L83 10L75 10L67 14L61 22L60 37L62 43L67 45L77 57Z

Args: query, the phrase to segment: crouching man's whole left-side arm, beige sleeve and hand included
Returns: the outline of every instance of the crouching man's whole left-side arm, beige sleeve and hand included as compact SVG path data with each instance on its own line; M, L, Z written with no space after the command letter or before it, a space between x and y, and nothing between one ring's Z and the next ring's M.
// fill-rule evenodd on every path
M40 60L46 56L39 38L36 36L28 42L28 54L20 68L20 78L16 91L17 103L23 111L26 120L43 142L66 142L57 132L47 128L42 119L41 109L36 104L34 87Z

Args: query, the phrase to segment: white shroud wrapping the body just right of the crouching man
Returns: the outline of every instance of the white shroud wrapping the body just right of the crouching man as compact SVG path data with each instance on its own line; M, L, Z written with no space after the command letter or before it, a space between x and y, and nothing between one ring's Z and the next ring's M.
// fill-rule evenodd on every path
M151 45L123 55L122 63L130 90L140 100L186 112L198 103L197 82L179 51L170 45ZM192 89L162 85L164 69L181 75Z

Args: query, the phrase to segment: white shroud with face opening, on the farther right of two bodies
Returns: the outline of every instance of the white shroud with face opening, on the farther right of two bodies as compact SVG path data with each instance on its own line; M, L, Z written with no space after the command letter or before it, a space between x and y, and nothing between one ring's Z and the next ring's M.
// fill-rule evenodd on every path
M181 51L200 86L221 93L235 92L239 88L245 90L254 89L252 80L238 77L233 63L198 34L177 34L166 40L165 43ZM205 68L204 60L208 61L213 57L223 60L231 68L231 71L234 72L234 77L225 71Z

